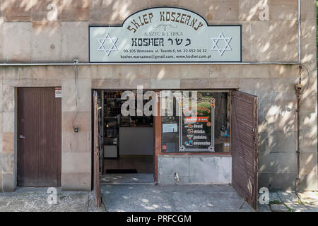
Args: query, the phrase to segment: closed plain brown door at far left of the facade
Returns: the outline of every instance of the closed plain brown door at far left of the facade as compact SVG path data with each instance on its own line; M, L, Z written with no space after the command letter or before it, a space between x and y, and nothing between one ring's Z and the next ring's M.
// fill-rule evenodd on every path
M61 186L61 98L18 88L18 186Z

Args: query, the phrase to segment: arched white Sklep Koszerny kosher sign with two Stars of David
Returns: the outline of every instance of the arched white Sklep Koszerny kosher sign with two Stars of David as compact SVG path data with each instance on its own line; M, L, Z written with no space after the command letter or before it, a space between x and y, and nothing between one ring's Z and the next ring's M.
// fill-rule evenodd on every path
M242 61L241 25L208 25L182 8L148 8L122 25L90 26L89 36L89 59L96 63Z

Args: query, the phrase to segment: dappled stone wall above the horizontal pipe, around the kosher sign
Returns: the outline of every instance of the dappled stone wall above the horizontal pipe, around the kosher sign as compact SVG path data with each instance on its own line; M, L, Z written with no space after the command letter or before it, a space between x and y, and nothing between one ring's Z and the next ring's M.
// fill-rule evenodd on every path
M281 6L284 16L273 13L269 21L261 21L261 1L144 1L144 0L10 0L1 4L4 22L4 61L88 61L88 25L122 24L123 20L143 8L178 6L201 14L210 24L242 24L243 61L297 61L297 2ZM277 11L279 4L269 4ZM295 12L290 13L291 9ZM274 11L274 9L276 9ZM271 14L270 14L271 15ZM283 30L283 32L277 32ZM266 32L265 32L266 31ZM23 39L16 34L22 34ZM74 42L76 40L76 42ZM12 42L20 43L12 47ZM20 49L19 49L20 47ZM23 48L21 48L23 47ZM48 52L49 54L43 54Z

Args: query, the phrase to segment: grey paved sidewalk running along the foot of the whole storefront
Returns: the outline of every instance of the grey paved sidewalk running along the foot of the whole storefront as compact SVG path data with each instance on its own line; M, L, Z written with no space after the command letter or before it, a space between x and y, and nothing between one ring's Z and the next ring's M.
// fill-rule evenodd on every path
M117 211L253 211L232 186L102 184L104 205ZM96 209L93 192L57 189L57 204L49 205L47 188L18 188L0 193L0 212L104 212ZM260 212L318 212L318 191L295 193L272 191L269 205L259 205Z

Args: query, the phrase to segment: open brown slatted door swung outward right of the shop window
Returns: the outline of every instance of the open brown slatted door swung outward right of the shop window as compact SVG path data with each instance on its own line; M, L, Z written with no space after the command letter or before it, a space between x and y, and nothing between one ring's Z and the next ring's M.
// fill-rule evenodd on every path
M257 209L258 97L233 91L232 186L252 208Z

